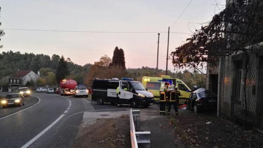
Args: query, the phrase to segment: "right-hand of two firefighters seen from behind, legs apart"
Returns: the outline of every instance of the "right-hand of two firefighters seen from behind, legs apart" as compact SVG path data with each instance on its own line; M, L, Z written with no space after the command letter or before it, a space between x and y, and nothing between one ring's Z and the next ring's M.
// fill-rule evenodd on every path
M172 84L169 87L169 97L168 97L168 102L167 102L168 103L168 112L167 112L168 115L170 114L172 105L175 109L176 115L178 115L178 108L177 108L176 102L177 102L177 100L176 100L175 86Z

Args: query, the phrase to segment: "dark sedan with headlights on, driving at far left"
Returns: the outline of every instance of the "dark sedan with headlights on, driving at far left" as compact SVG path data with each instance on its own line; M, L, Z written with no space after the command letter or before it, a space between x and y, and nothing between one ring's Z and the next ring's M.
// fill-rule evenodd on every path
M7 94L3 100L1 100L3 108L9 106L22 106L25 105L25 99L20 94Z

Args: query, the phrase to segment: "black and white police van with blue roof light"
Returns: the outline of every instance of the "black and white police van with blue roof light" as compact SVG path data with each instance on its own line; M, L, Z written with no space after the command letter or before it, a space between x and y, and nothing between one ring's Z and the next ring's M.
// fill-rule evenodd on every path
M141 82L131 78L94 79L92 84L91 100L103 105L104 102L112 104L130 104L137 106L151 106L154 96L147 91Z

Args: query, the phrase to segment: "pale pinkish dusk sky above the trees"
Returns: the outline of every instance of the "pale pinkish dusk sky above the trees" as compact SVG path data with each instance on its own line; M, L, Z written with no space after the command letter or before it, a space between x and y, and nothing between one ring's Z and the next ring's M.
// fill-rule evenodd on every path
M1 28L165 32L184 11L190 0L1 0ZM191 33L220 10L225 0L193 0L170 30ZM194 23L192 23L194 22ZM76 33L4 30L0 51L64 55L79 64L94 63L116 46L123 48L126 67L156 67L157 33ZM170 33L169 53L188 34ZM167 34L160 33L159 68L166 67ZM171 60L168 68L174 71ZM175 70L176 71L176 70Z

